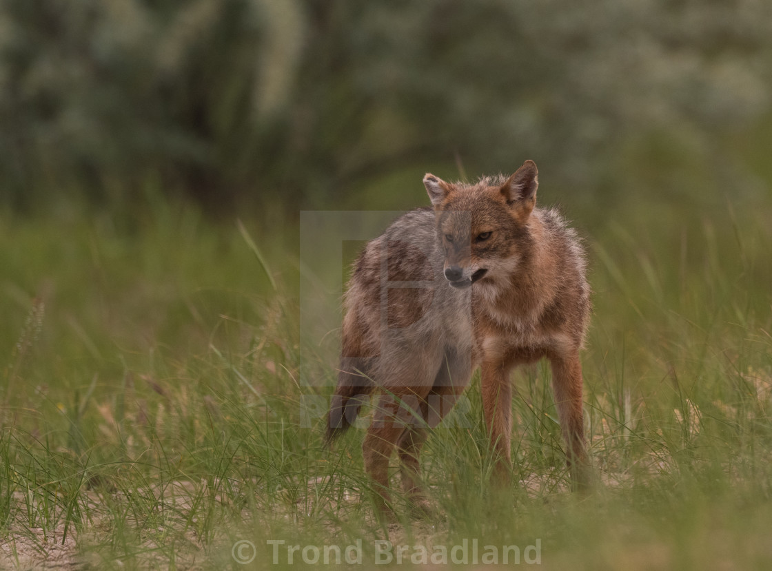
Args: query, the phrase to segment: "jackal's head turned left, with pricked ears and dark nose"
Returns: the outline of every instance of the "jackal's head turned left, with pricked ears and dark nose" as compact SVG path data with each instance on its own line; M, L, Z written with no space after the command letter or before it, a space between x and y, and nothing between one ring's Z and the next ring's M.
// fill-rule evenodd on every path
M426 174L450 285L466 288L512 275L532 240L527 224L536 205L538 174L533 160L509 178L486 177L476 184L448 183Z

